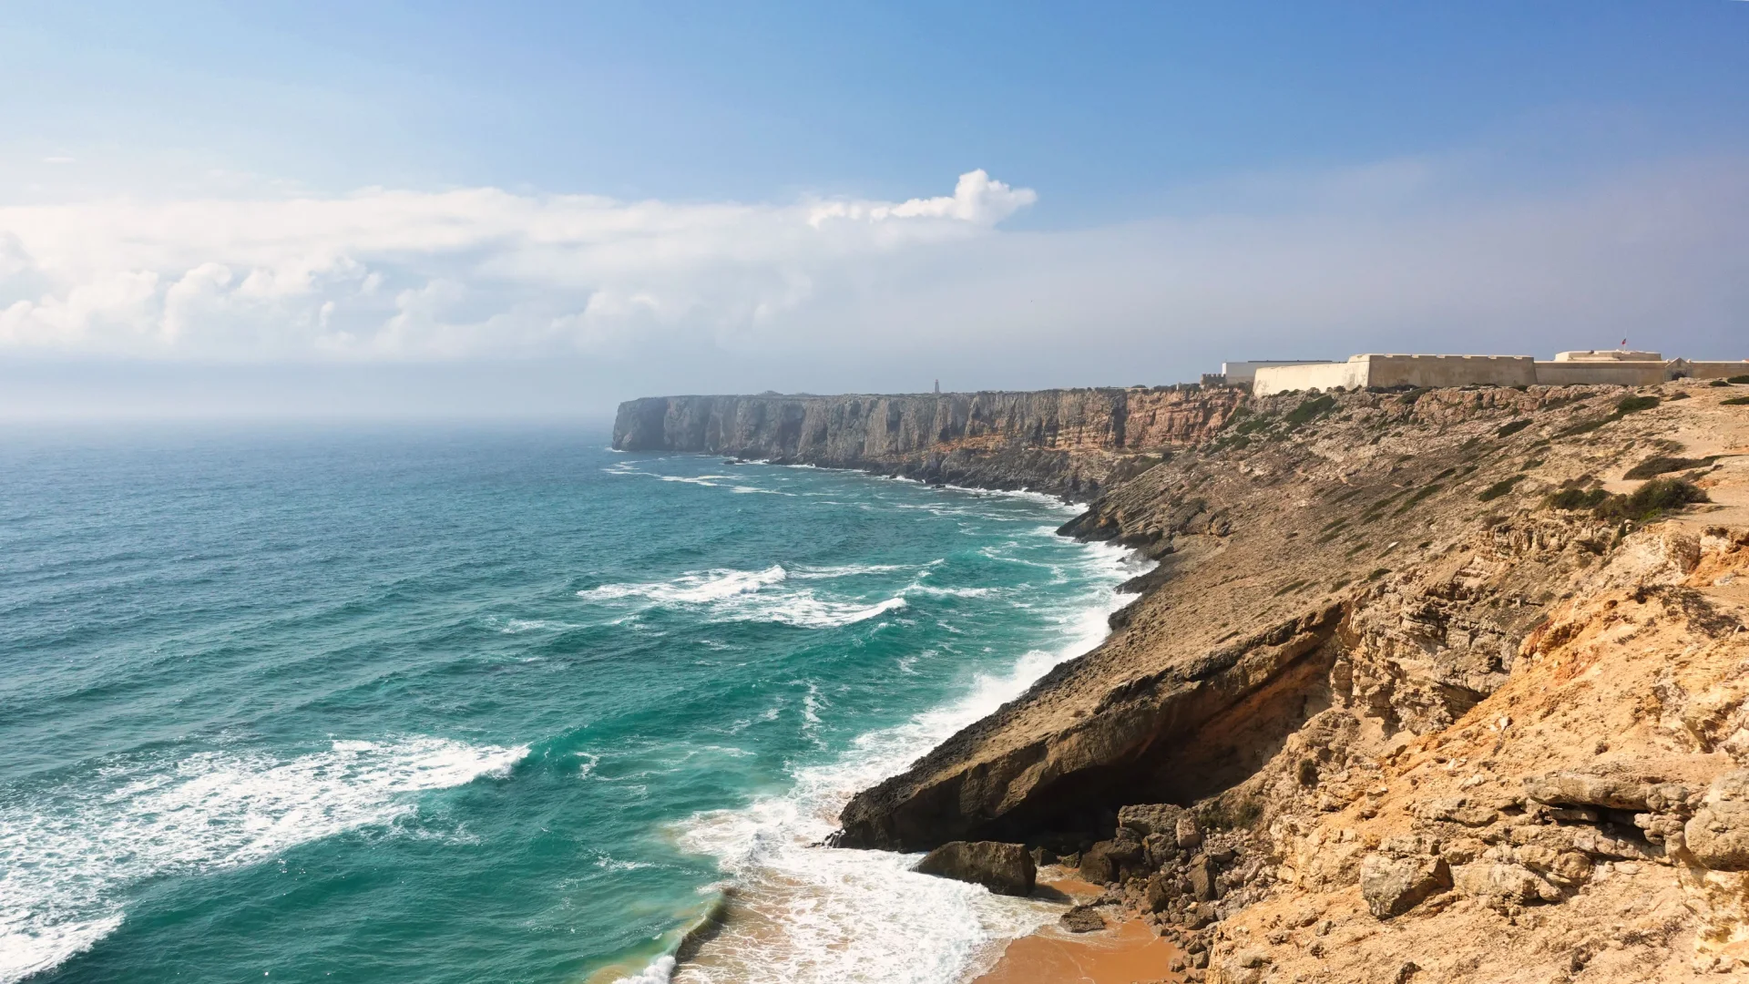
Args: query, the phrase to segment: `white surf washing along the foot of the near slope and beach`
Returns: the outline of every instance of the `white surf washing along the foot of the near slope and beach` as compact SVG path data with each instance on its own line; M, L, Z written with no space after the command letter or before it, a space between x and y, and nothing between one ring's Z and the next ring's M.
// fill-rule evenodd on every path
M1090 574L1098 571L1102 583L1116 583L1133 573L1121 569L1125 553L1090 545L1083 564ZM838 811L855 790L899 772L955 730L1018 697L1058 662L1097 644L1118 604L1111 587L1090 590L1063 609L1058 650L1028 651L1006 672L976 678L958 700L862 735L836 762L796 769L794 786L784 795L679 825L680 846L717 858L747 916L724 928L708 961L679 972L652 970L684 984L943 984L988 965L993 944L1048 921L1055 909L1046 903L918 875L909 870L915 856L817 844L836 826Z

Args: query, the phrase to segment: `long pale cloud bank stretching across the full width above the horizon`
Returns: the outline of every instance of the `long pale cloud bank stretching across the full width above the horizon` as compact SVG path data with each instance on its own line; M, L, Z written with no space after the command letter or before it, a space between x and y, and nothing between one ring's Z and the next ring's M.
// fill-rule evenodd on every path
M787 361L834 366L815 389L880 389L843 364L922 357L986 385L1039 385L1039 364L1062 385L1172 382L1090 373L1111 354L1212 368L1308 348L1544 354L1623 334L1744 357L1746 163L1478 193L1459 165L1385 161L1275 175L1263 196L1258 182L1202 189L1195 214L1081 229L1006 226L1039 194L983 170L902 201L465 187L0 207L0 359L561 359L659 390L665 359L705 385L712 366ZM1020 348L1034 371L990 380Z

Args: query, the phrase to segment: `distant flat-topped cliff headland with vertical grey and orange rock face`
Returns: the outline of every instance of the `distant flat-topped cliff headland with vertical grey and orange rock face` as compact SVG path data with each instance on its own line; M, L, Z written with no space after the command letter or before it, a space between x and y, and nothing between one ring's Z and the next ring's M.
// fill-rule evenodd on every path
M1210 438L1244 401L1237 389L661 396L619 406L614 446L1090 499L1137 455Z

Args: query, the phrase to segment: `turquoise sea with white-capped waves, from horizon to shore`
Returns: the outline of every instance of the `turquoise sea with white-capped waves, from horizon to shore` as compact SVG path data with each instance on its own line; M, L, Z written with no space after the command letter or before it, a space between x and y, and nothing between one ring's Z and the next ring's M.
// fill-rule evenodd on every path
M0 434L0 982L950 982L1048 917L812 846L1102 636L1042 497L560 427Z

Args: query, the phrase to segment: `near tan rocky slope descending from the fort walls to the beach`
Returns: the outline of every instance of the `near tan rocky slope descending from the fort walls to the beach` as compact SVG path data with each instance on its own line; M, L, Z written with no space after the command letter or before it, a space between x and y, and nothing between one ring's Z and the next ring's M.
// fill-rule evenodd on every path
M1062 854L1191 979L1749 968L1742 392L1286 394L1109 464L1065 532L1140 599L838 844Z

